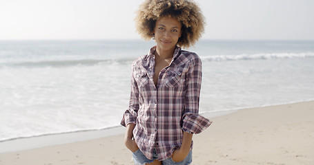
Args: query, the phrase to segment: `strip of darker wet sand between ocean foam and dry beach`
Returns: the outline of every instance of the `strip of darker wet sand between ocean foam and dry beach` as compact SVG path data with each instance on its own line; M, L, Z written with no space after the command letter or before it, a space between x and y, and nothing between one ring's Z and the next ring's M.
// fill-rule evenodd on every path
M256 108L264 108L264 107L272 107L272 106L280 106L285 104L295 104L302 102L312 102L314 100L305 100L305 101L296 101L296 102L287 102L287 103L279 103L279 104L266 104L260 107L244 107L239 109L226 109L223 111L205 111L200 113L204 115L206 118L217 118L223 115L229 115L231 113L235 113L237 111L241 111L244 109L256 109ZM81 142L86 140L93 140L101 137L109 137L113 135L121 135L124 134L123 126L110 126L104 129L90 129L90 130L81 130L81 131L71 131L64 133L48 133L43 135L34 135L30 137L16 137L8 140L0 141L0 154L8 153L14 151L24 151L29 149L41 148L45 146L53 146L59 144L69 144L73 142ZM37 144L32 144L28 142L38 141ZM28 144L28 145L15 145L14 144ZM10 146L10 147L8 147ZM13 147L12 147L13 146Z

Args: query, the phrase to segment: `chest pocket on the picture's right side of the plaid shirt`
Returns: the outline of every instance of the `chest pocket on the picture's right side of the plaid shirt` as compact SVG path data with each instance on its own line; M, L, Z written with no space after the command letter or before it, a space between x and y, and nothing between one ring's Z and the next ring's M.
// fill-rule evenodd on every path
M188 69L188 65L180 65L174 70L169 70L166 75L166 87L178 87L184 79L184 74Z

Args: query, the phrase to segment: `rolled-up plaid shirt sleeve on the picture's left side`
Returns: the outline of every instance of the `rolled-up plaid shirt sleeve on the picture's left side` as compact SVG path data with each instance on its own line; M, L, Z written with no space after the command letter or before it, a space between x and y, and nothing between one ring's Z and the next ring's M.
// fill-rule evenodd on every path
M128 109L124 112L124 116L121 120L121 125L126 126L130 123L136 124L137 111L139 110L139 88L135 80L135 67L132 67L132 78L131 78L131 92L130 102Z

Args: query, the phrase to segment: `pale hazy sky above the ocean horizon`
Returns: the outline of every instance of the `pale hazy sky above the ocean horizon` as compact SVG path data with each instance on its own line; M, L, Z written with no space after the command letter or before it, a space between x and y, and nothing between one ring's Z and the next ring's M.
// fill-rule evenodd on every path
M0 0L0 40L140 39L143 0ZM314 40L313 0L196 0L202 39Z

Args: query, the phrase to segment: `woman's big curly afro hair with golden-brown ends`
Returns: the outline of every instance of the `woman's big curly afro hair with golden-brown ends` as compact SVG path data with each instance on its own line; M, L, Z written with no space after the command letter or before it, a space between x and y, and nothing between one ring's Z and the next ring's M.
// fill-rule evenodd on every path
M145 39L154 37L157 19L173 17L181 22L181 37L177 42L179 47L190 47L204 33L205 18L193 1L188 0L146 0L139 6L135 17L137 32Z

